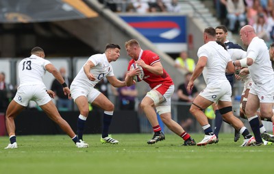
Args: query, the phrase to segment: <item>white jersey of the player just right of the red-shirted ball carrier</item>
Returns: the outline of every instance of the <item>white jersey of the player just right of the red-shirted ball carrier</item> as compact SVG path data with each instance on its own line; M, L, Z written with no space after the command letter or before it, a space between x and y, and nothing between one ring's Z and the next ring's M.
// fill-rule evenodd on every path
M225 69L227 62L232 61L229 53L216 41L210 41L201 46L197 52L198 58L205 56L208 58L203 69L203 78L207 86L214 86L216 83L227 81Z

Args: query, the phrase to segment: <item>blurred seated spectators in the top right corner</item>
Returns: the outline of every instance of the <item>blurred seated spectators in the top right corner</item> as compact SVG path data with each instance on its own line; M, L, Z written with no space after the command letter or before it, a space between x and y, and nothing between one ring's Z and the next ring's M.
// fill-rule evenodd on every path
M240 27L251 25L266 42L274 40L274 0L215 0L216 16L238 34Z

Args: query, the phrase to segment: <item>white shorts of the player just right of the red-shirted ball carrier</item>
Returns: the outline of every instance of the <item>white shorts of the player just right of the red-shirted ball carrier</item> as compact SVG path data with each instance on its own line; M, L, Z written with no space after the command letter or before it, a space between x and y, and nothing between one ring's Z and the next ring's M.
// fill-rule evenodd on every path
M199 95L216 103L218 103L218 101L232 101L232 87L227 80L219 84L213 84L213 86L206 86Z

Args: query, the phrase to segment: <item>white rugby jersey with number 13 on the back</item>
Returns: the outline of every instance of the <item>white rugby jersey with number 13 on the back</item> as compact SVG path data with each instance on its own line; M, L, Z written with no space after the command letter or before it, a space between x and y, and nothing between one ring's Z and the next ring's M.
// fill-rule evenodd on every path
M34 54L29 58L21 60L18 64L19 86L45 85L42 80L47 71L45 68L47 64L51 64L51 62Z

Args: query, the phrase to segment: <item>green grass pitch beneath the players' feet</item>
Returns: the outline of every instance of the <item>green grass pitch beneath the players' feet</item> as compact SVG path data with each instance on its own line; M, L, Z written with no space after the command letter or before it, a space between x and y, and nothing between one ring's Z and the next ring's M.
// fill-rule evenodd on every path
M147 145L152 134L115 134L119 145L101 144L100 135L85 135L87 149L77 149L66 135L17 136L18 149L3 149L0 173L273 173L274 145L239 147L232 134L220 134L218 144L182 147L182 139ZM192 134L196 142L203 134Z

